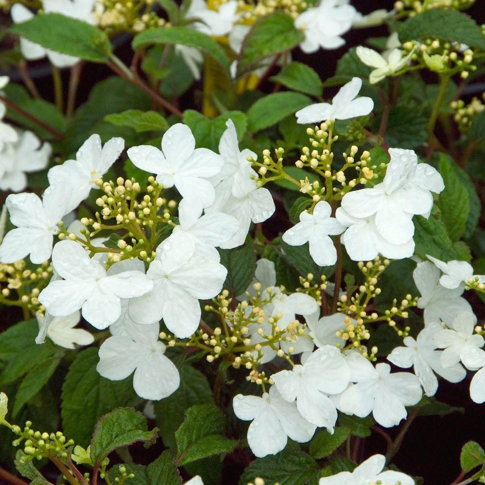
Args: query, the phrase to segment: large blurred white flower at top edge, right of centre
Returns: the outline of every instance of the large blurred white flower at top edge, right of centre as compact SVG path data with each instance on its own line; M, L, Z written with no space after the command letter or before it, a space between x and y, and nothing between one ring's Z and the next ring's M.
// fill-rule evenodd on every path
M318 49L337 49L345 44L340 35L348 32L357 16L348 0L322 0L317 7L310 7L295 20L295 27L302 29L305 40L300 48L305 53Z

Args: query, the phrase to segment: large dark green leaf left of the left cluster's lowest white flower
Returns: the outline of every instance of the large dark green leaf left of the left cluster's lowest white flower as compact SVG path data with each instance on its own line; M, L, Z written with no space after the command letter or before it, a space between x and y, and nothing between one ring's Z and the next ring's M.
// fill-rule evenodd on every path
M66 436L87 447L100 416L119 405L133 405L138 397L131 377L110 381L96 370L97 348L80 352L69 367L61 395L61 416Z

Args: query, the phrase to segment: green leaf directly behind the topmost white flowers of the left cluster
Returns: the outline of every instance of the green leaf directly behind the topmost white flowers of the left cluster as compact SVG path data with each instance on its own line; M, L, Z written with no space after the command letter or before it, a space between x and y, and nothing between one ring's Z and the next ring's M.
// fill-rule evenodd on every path
M234 123L238 139L241 141L247 128L246 115L241 111L228 111L212 119L194 110L186 110L183 113L183 122L194 133L195 146L217 152L221 136L227 129L226 121L229 118Z

